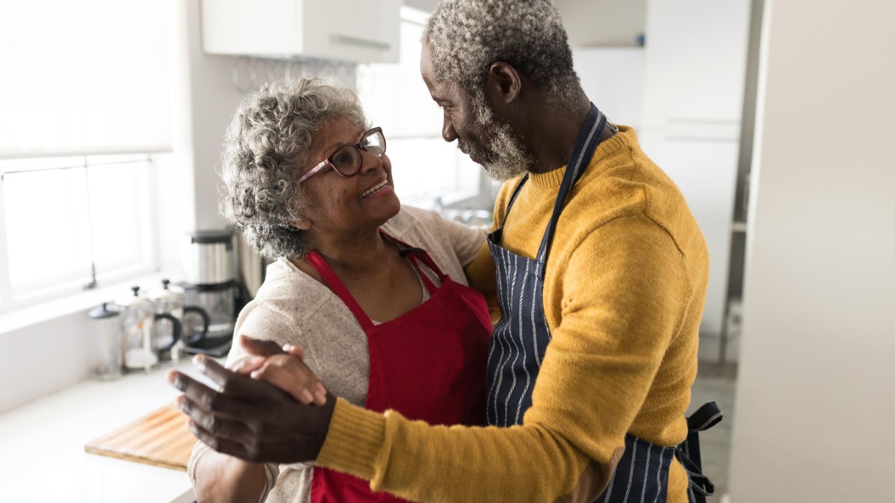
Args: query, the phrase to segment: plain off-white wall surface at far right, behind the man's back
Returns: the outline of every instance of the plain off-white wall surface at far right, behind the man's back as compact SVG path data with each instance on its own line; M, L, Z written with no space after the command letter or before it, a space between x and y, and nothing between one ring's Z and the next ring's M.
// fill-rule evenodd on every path
M764 15L732 500L891 501L895 3Z

